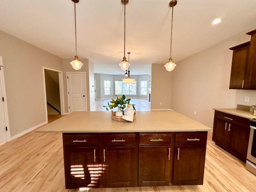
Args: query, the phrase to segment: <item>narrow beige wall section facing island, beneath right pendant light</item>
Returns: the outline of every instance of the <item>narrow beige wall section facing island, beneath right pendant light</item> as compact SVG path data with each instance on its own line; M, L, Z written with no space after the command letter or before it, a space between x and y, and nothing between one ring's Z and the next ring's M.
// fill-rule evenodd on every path
M170 110L171 98L172 72L168 72L164 64L152 64L150 110Z

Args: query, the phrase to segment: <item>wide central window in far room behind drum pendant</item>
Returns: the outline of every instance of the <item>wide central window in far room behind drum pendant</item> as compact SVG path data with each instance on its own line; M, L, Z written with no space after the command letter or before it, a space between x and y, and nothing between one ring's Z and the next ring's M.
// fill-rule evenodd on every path
M136 82L135 83L122 83L122 81L116 81L116 95L136 95Z

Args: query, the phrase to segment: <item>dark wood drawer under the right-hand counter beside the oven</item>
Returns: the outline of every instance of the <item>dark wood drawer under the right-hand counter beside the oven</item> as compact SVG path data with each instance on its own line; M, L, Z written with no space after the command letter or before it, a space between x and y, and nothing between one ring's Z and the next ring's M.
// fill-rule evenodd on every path
M243 118L240 116L220 112L220 111L215 111L214 113L215 118L220 118L222 120L225 120L230 123L235 123L244 127L250 127L250 120L247 118Z

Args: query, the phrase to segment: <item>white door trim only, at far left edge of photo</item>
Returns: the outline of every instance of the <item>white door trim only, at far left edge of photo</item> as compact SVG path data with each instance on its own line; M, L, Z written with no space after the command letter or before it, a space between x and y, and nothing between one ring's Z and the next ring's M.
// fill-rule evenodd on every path
M6 131L6 140L10 141L11 140L11 134L10 134L10 123L9 123L9 116L8 116L8 108L7 108L7 97L6 97L6 88L5 88L5 82L4 82L4 64L2 60L2 56L0 56L0 84L2 88L2 95L4 97L4 120L5 120L5 126L7 127Z

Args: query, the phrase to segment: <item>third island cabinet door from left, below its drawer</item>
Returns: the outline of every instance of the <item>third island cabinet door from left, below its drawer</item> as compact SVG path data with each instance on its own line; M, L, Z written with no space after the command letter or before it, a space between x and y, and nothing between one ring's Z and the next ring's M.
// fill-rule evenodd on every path
M170 146L139 147L139 186L168 186L171 183L173 149Z

